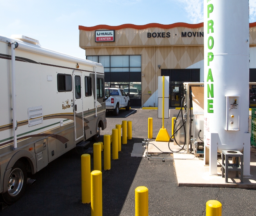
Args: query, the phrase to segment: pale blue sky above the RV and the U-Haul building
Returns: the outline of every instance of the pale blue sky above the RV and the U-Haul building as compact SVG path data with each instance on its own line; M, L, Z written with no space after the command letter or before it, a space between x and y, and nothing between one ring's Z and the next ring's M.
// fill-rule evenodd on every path
M250 22L256 22L256 0ZM78 26L203 22L203 0L0 0L0 35L25 35L42 47L85 58Z

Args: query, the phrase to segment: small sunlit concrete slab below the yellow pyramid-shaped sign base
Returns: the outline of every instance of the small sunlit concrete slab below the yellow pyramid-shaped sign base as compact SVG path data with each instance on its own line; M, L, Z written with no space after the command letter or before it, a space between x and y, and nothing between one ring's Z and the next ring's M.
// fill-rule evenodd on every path
M159 148L162 152L166 152L166 153L172 153L170 151L170 149L168 148L168 142L156 142L156 141L152 141L152 142L149 142L148 144L148 154L156 154L156 153L162 153L160 150L158 150L154 145L154 144L157 148ZM180 150L181 148L178 146L178 145L174 145L173 143L170 143L170 148L171 150L174 150L174 151L178 151ZM181 152L184 152L183 150Z

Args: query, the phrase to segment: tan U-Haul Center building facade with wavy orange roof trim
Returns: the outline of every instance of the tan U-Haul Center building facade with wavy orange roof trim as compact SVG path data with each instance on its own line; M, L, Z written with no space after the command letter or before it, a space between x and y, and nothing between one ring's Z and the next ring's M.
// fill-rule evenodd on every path
M183 82L204 82L205 34L203 23L79 26L79 46L88 60L104 66L105 87L123 88L131 106L157 107L158 76L165 75L169 107L180 107ZM256 82L256 22L249 43L250 82ZM256 106L256 85L250 97Z

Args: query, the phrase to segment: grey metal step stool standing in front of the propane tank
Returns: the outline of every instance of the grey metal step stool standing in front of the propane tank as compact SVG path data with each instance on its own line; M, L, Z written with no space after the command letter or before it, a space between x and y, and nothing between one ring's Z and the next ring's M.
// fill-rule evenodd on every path
M228 157L235 158L235 163L228 163ZM225 182L228 183L228 171L236 171L236 177L238 177L238 172L240 172L240 183L243 183L244 174L244 156L239 151L222 150L222 178L224 177L225 170ZM239 163L239 158L240 162ZM234 160L233 160L234 162Z

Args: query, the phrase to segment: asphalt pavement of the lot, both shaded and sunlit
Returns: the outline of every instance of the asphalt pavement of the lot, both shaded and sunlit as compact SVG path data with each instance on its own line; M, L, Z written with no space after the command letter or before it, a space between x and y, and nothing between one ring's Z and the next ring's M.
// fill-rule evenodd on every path
M135 111L134 111L135 110ZM130 114L131 113L131 114ZM178 110L170 110L165 127L171 132L171 117ZM130 114L129 116L127 116ZM125 117L127 116L127 117ZM122 120L132 121L133 138L122 145L118 160L111 160L111 170L103 170L102 194L104 216L134 216L134 190L138 186L149 189L149 215L205 215L210 199L222 203L222 215L256 215L256 190L238 188L178 187L174 162L131 157L134 143L147 138L148 117L153 117L153 138L162 127L157 110L120 110L119 116L107 112L107 128L111 134ZM27 186L24 196L5 208L0 215L91 215L90 204L81 203L81 154L71 150L34 174L36 183ZM91 158L93 170L93 158ZM103 167L103 152L102 152ZM189 177L189 176L188 176Z

